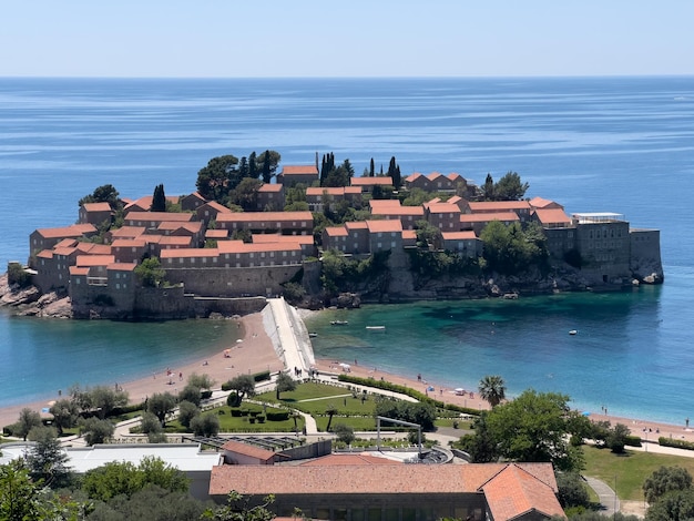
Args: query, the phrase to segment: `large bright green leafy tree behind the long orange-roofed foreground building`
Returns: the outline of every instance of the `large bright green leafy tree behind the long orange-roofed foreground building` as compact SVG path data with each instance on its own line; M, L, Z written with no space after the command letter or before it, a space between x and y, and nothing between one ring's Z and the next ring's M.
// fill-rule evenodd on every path
M568 438L581 415L570 410L568 401L564 395L529 389L491 409L487 426L500 457L510 461L551 462L562 471L581 470L581 451Z

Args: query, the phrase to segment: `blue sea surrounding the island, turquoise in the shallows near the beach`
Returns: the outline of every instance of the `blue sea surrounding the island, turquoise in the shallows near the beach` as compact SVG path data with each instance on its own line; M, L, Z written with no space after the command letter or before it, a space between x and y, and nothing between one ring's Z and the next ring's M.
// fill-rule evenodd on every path
M0 79L0 265L29 234L78 218L103 184L123 197L195 191L208 160L333 152L357 175L477 184L517 172L567 212L614 212L661 231L662 286L518 300L422 302L307 319L317 357L436 388L567 395L583 411L694 418L694 78ZM330 326L331 319L347 326ZM367 330L382 325L385 330ZM568 331L575 329L576 335ZM204 357L235 333L208 320L20 318L0 310L0 407L71 385L113 385Z

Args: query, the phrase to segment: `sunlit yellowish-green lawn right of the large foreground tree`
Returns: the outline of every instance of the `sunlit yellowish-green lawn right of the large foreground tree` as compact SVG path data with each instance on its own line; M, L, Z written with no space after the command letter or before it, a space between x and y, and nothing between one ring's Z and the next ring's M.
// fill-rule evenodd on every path
M624 500L643 501L643 482L661 467L682 467L694 476L694 458L631 450L625 454L614 454L609 449L592 446L583 446L583 473L604 481L612 489L616 477L616 493Z

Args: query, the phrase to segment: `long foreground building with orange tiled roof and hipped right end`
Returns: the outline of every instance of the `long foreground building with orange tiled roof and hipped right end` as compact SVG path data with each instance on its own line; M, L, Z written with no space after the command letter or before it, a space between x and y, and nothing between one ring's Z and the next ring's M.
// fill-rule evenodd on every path
M327 457L300 466L213 467L210 497L232 490L290 515L310 519L545 521L564 518L551 463L375 464ZM372 459L372 458L371 458Z

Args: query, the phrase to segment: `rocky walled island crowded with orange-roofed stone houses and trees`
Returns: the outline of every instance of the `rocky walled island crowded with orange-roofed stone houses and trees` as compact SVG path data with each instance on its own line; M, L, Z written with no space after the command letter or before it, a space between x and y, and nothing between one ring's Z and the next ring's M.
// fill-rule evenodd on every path
M10 262L2 303L35 316L177 319L296 306L518 298L664 279L660 231L611 212L567 214L509 172L354 175L331 154L275 168L279 154L215 157L197 191L121 198L111 185L78 223L38 228ZM244 166L245 165L245 166Z

